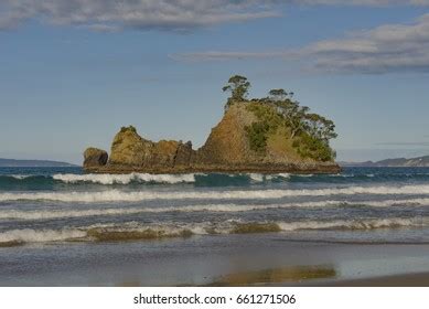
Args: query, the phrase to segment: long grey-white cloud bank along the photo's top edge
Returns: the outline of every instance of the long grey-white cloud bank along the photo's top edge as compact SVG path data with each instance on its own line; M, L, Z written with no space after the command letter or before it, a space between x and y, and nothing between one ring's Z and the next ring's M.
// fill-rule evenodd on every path
M281 4L429 6L429 0L1 0L0 30L29 19L83 25L97 31L124 28L191 30L281 14Z

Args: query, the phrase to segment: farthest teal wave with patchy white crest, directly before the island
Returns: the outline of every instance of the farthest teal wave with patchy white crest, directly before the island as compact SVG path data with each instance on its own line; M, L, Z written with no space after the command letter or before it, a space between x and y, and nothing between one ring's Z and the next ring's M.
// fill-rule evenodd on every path
M341 173L341 174L262 174L262 173L184 173L184 174L0 174L0 188L7 190L43 190L64 184L81 187L95 185L148 185L148 184L191 184L194 187L243 187L260 183L365 183L427 181L429 173Z

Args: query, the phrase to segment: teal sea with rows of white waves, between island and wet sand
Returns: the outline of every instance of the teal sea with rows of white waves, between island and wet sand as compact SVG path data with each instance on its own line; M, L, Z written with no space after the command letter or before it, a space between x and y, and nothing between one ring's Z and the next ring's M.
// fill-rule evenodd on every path
M429 169L348 168L325 175L0 169L2 247L108 241L116 232L121 239L144 238L139 233L148 230L232 234L243 225L305 239L427 242Z

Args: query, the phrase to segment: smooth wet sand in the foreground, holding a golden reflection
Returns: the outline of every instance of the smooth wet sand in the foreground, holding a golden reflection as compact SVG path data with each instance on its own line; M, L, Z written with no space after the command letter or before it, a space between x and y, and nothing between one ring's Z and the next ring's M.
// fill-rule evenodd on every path
M0 248L0 286L429 286L429 245L282 233Z

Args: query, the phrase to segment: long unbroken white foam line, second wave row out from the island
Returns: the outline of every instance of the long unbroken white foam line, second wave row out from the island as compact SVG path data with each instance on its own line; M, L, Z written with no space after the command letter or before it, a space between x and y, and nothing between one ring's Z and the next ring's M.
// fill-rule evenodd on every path
M108 190L98 192L25 192L0 193L4 201L60 201L60 202L139 202L147 200L266 200L287 196L326 196L326 195L412 195L429 194L429 185L404 187L347 187L303 190L233 190L233 191L139 191L126 192Z

